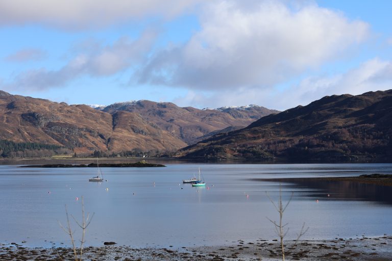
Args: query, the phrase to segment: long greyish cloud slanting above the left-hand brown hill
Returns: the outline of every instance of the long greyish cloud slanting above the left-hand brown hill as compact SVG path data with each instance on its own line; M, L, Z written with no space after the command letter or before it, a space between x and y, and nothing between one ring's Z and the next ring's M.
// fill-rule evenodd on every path
M156 33L146 31L131 41L122 37L110 46L96 46L93 53L80 53L58 70L45 68L22 72L3 89L44 90L61 87L82 75L107 76L138 66L151 49Z

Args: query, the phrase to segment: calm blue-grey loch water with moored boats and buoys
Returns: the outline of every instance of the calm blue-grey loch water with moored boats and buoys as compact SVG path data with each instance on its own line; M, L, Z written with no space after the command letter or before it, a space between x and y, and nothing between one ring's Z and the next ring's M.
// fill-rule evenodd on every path
M199 167L207 187L182 184ZM66 223L65 204L81 218L81 196L86 211L95 213L86 245L181 247L274 239L266 217L277 220L278 213L266 192L277 199L279 184L253 179L390 174L392 164L167 164L102 171L108 181L97 183L88 181L96 175L93 168L0 166L0 243L69 245L58 221ZM282 191L285 200L294 192L284 215L287 238L296 238L303 222L309 226L306 239L392 234L390 187L284 183Z

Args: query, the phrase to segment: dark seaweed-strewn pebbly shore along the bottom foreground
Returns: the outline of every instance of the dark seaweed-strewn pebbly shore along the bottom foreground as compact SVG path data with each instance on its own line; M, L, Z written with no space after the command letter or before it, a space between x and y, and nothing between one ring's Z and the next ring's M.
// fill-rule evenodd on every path
M391 260L392 236L355 239L285 241L286 259L291 260ZM71 248L28 248L11 243L0 246L0 259L74 260ZM228 243L225 246L133 248L105 245L83 249L83 260L280 260L277 240Z

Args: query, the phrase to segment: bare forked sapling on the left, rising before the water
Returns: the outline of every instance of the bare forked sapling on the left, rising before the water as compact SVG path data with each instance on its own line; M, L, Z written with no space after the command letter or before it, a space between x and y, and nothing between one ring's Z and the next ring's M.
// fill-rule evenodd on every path
M79 257L78 257L78 251L75 245L75 239L74 239L74 233L75 231L72 231L70 223L69 223L69 215L68 215L68 210L67 210L67 205L65 205L65 214L67 217L67 227L64 227L60 221L59 221L59 225L60 227L65 231L65 233L68 234L69 238L71 239L71 244L72 244L72 250L74 251L74 258L75 261L82 261L82 255L83 255L83 244L86 242L85 241L85 236L86 236L86 229L88 227L88 225L90 225L92 218L94 217L95 213L92 213L91 218L90 218L90 214L87 213L87 217L85 215L85 211L84 211L84 200L83 200L83 196L81 197L82 199L82 222L79 222L74 216L70 215L72 217L72 219L74 219L74 221L77 223L77 225L82 228L82 239L80 240L80 251L79 251Z

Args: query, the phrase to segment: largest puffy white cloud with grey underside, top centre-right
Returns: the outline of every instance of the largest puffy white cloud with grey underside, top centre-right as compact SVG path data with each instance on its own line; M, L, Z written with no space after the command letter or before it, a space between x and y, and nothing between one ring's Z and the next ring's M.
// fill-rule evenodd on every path
M330 9L278 1L209 2L200 22L186 44L157 52L139 83L266 88L338 58L369 34L368 24Z

